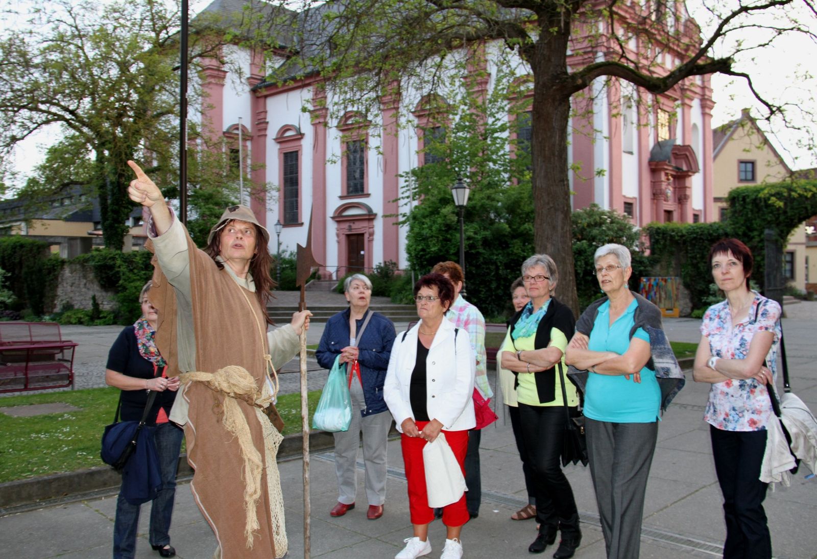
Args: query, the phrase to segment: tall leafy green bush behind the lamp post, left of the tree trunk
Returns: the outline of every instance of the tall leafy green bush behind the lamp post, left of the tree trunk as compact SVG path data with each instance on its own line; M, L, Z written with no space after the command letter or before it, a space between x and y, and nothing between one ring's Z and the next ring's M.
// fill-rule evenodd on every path
M529 154L518 149L511 157L511 79L501 70L496 83L486 96L472 95L463 83L458 97L451 95L454 102L434 105L435 121L450 123L445 141L424 147L435 163L403 175L404 207L410 206L402 221L409 226L406 253L417 275L437 262L459 260L458 209L450 188L459 177L471 187L463 212L466 289L468 300L484 315L504 310L508 286L534 244ZM520 103L511 112L525 109Z

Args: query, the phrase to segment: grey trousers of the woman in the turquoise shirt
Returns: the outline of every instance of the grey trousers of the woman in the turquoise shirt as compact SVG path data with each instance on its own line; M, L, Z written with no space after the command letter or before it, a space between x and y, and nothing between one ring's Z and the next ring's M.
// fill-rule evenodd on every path
M637 559L659 424L587 418L587 454L608 559Z

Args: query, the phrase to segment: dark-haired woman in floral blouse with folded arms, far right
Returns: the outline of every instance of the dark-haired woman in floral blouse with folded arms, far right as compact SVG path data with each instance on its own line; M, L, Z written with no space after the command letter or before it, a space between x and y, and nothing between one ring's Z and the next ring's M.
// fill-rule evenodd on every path
M723 239L709 252L712 277L726 300L703 315L694 379L711 382L704 421L723 493L723 557L771 557L760 481L766 423L773 413L766 382L776 378L780 306L749 289L752 251Z

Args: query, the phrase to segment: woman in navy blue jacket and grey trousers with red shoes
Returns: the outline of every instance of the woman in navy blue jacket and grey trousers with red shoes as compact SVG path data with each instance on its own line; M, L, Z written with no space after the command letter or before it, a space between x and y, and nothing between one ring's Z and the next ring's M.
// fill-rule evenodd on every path
M389 366L395 325L380 313L369 311L372 282L363 274L350 275L343 284L349 308L326 323L315 357L324 369L335 358L346 364L346 378L352 400L352 421L348 431L334 433L337 505L329 514L342 517L355 508L356 464L360 432L366 466L366 497L369 520L383 516L386 501L386 436L391 414L383 401L383 382Z

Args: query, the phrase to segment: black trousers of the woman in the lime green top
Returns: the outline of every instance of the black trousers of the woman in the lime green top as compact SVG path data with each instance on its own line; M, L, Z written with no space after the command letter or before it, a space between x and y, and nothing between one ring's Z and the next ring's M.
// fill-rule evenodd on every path
M575 408L570 408L574 411ZM562 538L578 536L578 511L573 489L561 469L567 414L562 405L519 405L525 440L536 483L536 521L544 534L561 530Z

